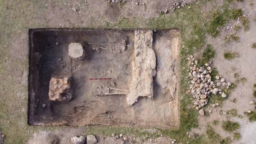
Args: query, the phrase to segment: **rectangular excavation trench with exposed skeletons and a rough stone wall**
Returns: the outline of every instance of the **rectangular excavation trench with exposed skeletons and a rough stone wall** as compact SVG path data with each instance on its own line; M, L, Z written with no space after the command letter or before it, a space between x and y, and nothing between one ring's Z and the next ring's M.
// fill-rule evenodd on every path
M177 29L30 29L28 124L178 127L179 40ZM50 100L51 78L65 77L70 97Z

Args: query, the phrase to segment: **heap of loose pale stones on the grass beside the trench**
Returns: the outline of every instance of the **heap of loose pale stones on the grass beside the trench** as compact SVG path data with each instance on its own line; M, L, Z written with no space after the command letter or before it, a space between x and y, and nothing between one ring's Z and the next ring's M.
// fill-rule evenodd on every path
M231 86L231 83L226 83L225 79L219 75L215 77L216 82L212 81L212 77L210 75L213 71L210 67L210 64L212 64L211 61L205 63L204 68L199 67L198 61L195 60L193 55L191 55L187 59L189 65L187 78L190 79L190 81L188 82L188 84L190 84L190 90L188 90L188 92L192 93L193 98L195 98L193 103L196 110L199 110L199 108L203 107L208 103L208 97L210 93L214 95L219 93L221 94L221 97L227 97L227 94L222 92L222 89L225 89L224 91L227 92L227 89L229 86Z

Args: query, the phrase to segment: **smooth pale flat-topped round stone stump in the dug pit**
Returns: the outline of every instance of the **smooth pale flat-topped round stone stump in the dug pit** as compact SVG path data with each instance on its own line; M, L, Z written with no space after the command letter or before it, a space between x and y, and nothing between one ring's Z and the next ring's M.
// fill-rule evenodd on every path
M82 44L80 43L69 44L68 55L73 59L83 59L85 57L85 52Z

